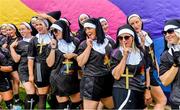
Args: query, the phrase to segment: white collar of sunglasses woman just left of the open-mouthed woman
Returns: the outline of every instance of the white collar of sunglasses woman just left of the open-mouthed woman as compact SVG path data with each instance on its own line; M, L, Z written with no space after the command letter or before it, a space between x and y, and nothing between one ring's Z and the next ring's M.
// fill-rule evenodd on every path
M67 43L64 39L58 41L58 49L63 53L73 53L76 46L73 42Z

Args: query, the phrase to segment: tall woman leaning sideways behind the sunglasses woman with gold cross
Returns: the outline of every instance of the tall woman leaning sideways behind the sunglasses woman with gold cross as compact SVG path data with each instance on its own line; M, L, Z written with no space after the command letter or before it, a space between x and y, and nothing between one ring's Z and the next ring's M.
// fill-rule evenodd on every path
M132 14L128 17L128 24L130 24L136 31L138 35L138 40L140 42L141 48L148 53L148 65L149 68L147 69L147 79L150 77L149 81L147 82L146 86L146 92L145 92L145 103L150 104L152 101L152 98L155 101L154 109L162 109L164 110L164 107L166 105L166 96L164 95L161 87L159 86L159 83L157 79L155 78L154 74L159 75L159 65L157 63L155 52L154 52L154 44L152 39L150 38L149 34L143 30L143 22L139 15ZM151 89L150 89L151 87ZM150 89L150 90L149 90ZM151 98L152 95L152 98Z

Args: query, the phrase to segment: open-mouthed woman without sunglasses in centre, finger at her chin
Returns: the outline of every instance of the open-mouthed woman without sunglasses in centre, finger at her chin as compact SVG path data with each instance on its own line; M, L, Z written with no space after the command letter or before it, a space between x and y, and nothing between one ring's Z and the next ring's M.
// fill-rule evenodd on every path
M107 108L113 108L112 75L105 56L110 55L112 47L105 38L98 19L90 18L84 23L86 40L78 48L77 62L83 68L80 92L84 109L97 109L101 101Z

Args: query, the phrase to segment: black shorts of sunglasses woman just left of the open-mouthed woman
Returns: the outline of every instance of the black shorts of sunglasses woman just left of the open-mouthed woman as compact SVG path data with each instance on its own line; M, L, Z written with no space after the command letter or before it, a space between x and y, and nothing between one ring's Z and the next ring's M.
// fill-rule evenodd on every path
M80 81L78 79L78 74L51 74L50 84L52 87L52 94L54 95L71 96L80 91Z

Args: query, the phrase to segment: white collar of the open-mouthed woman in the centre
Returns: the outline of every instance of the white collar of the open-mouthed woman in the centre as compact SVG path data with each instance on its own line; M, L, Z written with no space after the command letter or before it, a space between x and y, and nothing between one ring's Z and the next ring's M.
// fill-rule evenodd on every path
M106 48L106 46L107 46L108 43L109 43L109 40L108 40L107 38L104 39L104 43L103 43L103 44L99 44L99 43L97 43L97 40L94 40L94 41L92 42L92 44L93 44L93 47L92 47L92 48L93 48L95 51L97 51L97 52L99 52L99 53L101 53L101 54L105 54L105 53L106 53L105 48Z

